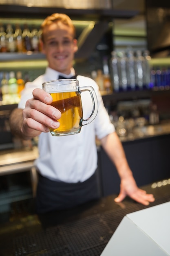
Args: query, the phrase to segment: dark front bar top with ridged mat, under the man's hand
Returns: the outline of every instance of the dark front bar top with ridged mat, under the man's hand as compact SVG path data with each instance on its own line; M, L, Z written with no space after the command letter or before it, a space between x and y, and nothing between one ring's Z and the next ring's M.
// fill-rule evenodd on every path
M155 196L148 207L170 201L170 179L142 188ZM29 202L27 211L1 223L0 255L99 256L126 214L148 208L130 198L117 204L115 197L40 216Z

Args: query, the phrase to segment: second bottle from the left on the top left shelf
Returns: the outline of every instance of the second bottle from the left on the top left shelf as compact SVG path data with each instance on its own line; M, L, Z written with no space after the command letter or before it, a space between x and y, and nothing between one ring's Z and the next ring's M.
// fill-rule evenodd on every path
M13 34L13 28L11 24L7 24L7 34L6 34L6 42L7 42L7 52L16 52L16 41Z

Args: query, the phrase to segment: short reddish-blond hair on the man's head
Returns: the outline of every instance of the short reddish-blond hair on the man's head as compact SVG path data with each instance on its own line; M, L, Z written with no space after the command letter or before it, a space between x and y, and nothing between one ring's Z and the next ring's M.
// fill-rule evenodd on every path
M44 38L43 38L44 28L51 25L53 22L62 22L64 25L70 27L73 30L73 38L75 38L75 26L73 25L71 18L64 13L53 13L51 14L51 16L46 17L45 20L42 22L42 25L41 25L42 41L44 41Z

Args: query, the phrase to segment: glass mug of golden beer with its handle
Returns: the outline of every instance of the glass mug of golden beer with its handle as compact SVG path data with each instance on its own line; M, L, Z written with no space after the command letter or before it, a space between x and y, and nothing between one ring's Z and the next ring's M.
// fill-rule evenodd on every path
M98 112L98 103L95 90L91 86L79 87L79 81L76 79L60 79L45 82L42 84L42 88L53 97L51 105L62 113L62 117L59 119L59 128L50 128L53 136L79 133L82 126L90 124L95 119ZM90 93L93 104L91 115L87 119L83 119L80 96L85 91Z

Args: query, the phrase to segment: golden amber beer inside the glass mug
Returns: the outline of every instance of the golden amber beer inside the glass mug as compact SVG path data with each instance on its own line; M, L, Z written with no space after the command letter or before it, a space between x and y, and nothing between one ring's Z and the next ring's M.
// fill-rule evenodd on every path
M57 92L51 93L53 97L52 106L61 111L62 117L59 119L60 126L57 129L50 129L52 135L61 133L79 133L82 126L82 101L78 92Z

